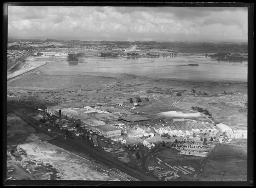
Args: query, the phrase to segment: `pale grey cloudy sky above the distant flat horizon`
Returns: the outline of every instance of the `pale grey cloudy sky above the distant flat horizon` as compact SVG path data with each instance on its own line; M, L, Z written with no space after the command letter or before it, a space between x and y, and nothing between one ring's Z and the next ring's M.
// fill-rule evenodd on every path
M8 38L246 42L247 34L246 7L8 6Z

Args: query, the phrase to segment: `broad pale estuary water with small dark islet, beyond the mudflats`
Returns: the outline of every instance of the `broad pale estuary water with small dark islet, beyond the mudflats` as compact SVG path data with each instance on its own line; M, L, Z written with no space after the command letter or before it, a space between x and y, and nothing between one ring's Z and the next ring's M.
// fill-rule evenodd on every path
M198 66L189 66L198 64ZM125 73L188 82L246 83L248 62L219 62L203 54L157 58L84 58L82 62L52 62L47 74Z

